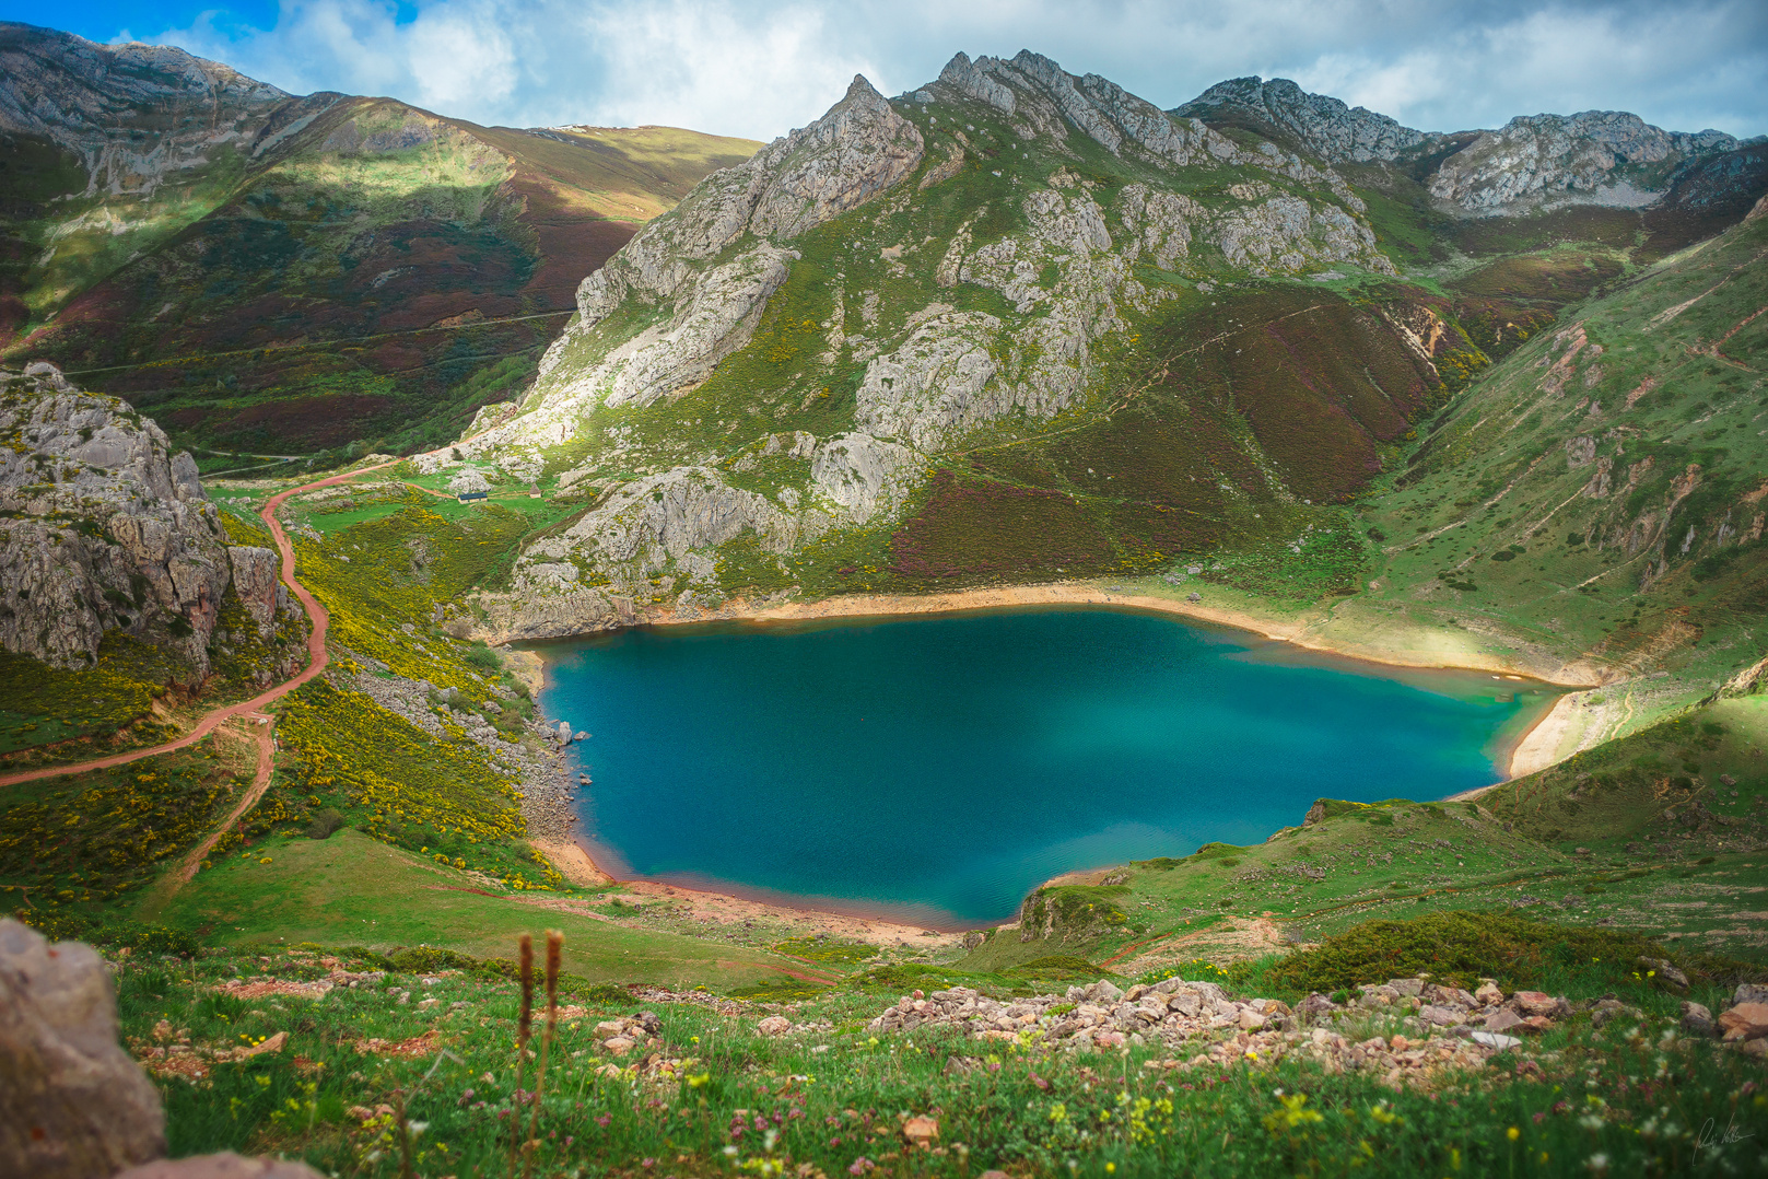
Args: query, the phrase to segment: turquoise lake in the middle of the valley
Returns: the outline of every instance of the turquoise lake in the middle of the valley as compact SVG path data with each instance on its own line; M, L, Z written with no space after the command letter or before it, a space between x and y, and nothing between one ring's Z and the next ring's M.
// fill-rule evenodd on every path
M932 926L1070 870L1439 799L1552 700L1116 610L636 628L541 647L578 831L621 879ZM575 771L573 771L575 778Z

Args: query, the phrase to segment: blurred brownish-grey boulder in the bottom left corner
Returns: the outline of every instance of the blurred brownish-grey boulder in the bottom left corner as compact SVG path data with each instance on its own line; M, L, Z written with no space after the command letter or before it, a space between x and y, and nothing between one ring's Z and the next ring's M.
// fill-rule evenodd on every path
M0 919L0 1172L90 1179L166 1152L159 1091L117 1043L110 972Z

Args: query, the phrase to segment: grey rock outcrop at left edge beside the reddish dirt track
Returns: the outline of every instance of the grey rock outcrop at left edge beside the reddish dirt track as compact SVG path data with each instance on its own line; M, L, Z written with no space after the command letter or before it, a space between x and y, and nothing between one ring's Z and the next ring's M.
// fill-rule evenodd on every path
M76 666L124 629L205 673L233 562L189 454L48 364L0 369L0 643Z

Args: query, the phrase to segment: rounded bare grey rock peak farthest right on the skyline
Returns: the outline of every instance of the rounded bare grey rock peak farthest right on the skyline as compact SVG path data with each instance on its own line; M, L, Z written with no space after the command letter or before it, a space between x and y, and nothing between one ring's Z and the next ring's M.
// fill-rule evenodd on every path
M1568 203L1639 209L1669 187L1674 166L1738 141L1680 134L1627 111L1522 115L1485 131L1430 177L1430 194L1476 216Z

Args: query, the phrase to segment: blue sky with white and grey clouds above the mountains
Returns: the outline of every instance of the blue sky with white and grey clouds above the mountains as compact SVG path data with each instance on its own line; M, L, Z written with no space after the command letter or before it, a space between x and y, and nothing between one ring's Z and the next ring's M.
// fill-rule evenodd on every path
M1423 131L1630 110L1768 133L1763 0L0 0L0 19L171 44L292 94L378 94L504 126L668 124L771 140L854 74L1034 49L1170 108L1292 78Z

